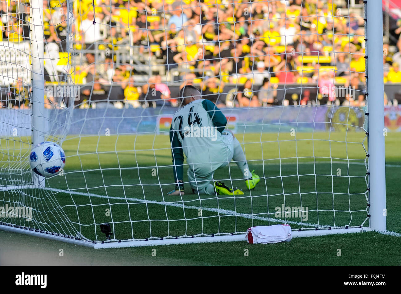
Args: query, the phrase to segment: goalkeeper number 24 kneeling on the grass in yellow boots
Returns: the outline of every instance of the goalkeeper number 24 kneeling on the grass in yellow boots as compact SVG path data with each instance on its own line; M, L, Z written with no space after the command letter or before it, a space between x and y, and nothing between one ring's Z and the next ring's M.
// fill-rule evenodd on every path
M174 114L170 127L172 162L176 187L167 195L184 195L184 154L188 167L188 181L193 193L242 195L239 189L227 187L220 181L210 182L213 172L234 160L244 174L248 189L255 188L259 176L249 172L245 154L231 131L225 130L227 119L217 106L205 99L192 85L180 91L182 107Z

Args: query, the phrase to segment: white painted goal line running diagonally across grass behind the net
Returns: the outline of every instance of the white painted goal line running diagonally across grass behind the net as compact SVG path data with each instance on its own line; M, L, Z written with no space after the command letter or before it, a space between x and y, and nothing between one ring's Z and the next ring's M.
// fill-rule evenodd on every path
M213 207L188 206L188 205L184 205L184 204L181 204L181 203L163 202L163 201L155 201L155 200L144 200L144 199L139 199L139 198L124 198L124 197L104 196L104 195L98 195L98 194L93 194L93 193L83 193L83 192L78 192L78 191L61 190L61 189L55 189L55 188L43 188L43 189L44 190L48 190L48 191L52 191L52 192L56 192L56 193L66 193L66 194L73 194L73 195L82 195L82 196L104 198L104 199L117 199L117 200L124 200L124 201L129 200L129 201L135 201L135 202L140 202L140 203L152 203L152 204L180 207L180 208L186 208L186 209L196 209L196 210L201 209L202 211L211 211L211 212L219 213L219 214L222 214L222 215L243 217L245 219L257 219L257 220L260 220L260 221L271 221L271 222L275 222L275 223L283 223L284 222L284 220L282 220L282 219L276 219L276 218L272 218L272 217L260 217L258 215L250 215L250 214L245 214L245 213L238 213L236 211L229 210L229 209L219 209L219 208L213 208ZM304 225L304 226L313 226L313 227L330 227L328 225L317 225L317 224L298 222L298 221L287 221L287 223L293 224L293 225Z

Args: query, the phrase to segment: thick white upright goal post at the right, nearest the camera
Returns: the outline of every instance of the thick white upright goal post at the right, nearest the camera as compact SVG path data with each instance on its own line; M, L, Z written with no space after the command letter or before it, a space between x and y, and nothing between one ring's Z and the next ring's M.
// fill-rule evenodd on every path
M382 3L366 3L367 113L369 132L369 199L371 228L386 231Z

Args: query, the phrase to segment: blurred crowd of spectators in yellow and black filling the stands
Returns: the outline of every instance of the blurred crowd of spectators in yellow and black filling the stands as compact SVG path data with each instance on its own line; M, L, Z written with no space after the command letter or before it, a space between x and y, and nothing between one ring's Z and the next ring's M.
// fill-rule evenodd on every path
M71 77L89 85L82 91L87 101L113 85L127 107L178 106L171 85L191 84L219 107L260 107L277 104L283 85L302 84L317 85L328 103L365 105L365 22L361 9L348 10L348 0L97 0L95 7L92 0L61 1L43 1L45 50L79 53ZM16 1L0 3L3 40L29 39L27 6L17 11ZM385 44L386 83L401 83L397 47ZM124 50L151 61L148 71L119 62ZM155 72L156 65L164 70ZM45 68L48 81L53 74ZM137 81L140 75L147 81ZM12 85L10 95L21 87Z

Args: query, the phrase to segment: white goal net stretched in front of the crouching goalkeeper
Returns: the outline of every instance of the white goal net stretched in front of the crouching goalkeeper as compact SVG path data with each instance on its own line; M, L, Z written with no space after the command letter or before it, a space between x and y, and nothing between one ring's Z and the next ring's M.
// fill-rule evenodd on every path
M1 1L0 228L106 247L243 240L257 225L289 224L294 236L371 229L364 5ZM191 189L186 160L184 193L168 195L186 85L239 141L249 170L222 155L206 172L237 195ZM49 178L29 164L44 141L66 154Z

